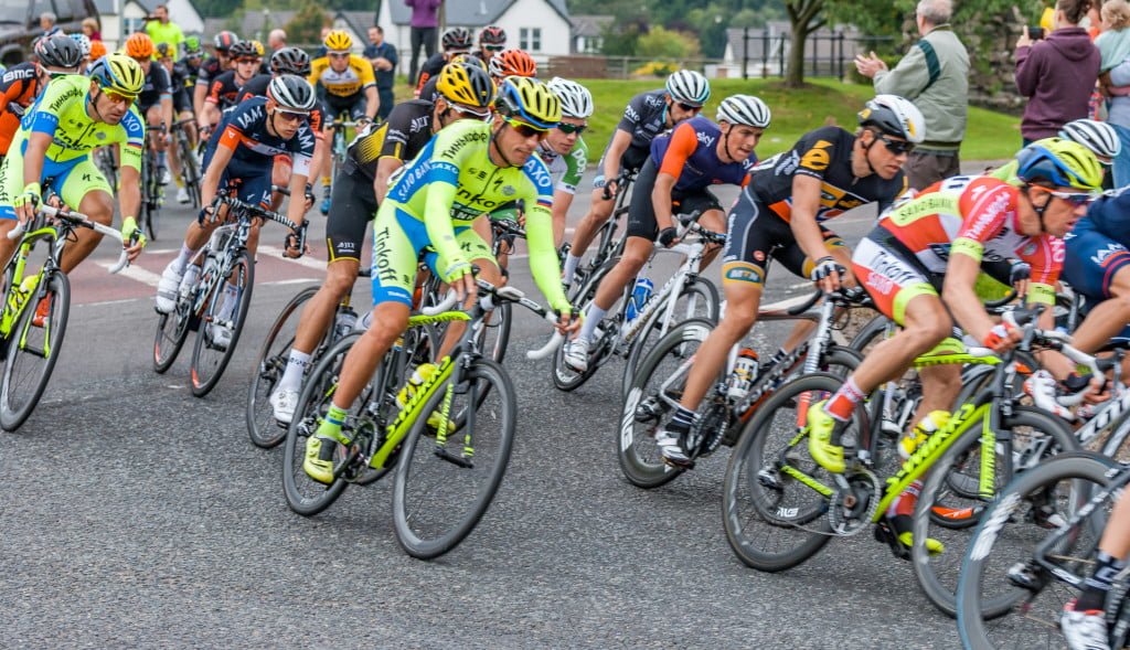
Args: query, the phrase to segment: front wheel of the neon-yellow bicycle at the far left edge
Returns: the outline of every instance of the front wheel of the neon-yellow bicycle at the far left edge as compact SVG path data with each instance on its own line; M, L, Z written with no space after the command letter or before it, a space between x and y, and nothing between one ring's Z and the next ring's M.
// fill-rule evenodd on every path
M47 388L51 371L62 352L67 318L70 314L70 281L61 270L49 271L41 280L46 287L47 315L36 326L38 304L35 296L24 305L24 313L9 335L0 384L0 428L16 431L27 419Z

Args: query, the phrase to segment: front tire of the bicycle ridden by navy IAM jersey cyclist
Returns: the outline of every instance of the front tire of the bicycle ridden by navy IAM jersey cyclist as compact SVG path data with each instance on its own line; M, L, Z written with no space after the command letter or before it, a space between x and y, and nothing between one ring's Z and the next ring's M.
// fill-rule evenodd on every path
M192 347L192 362L189 366L190 388L195 397L205 397L211 389L216 388L224 370L227 367L232 355L235 354L235 346L240 343L240 335L243 332L243 323L247 320L247 312L251 310L251 293L255 284L255 267L247 251L240 251L232 263L232 271L216 283L212 295L209 297L205 318L200 320L200 329L197 330L197 340ZM223 309L224 295L226 292L227 277L235 275L238 291L238 303L235 306L235 314L232 319L232 340L227 347L219 349L211 341L209 326L217 319L217 314ZM208 357L211 353L218 352L218 357L212 361ZM206 356L208 355L208 356ZM210 361L211 363L205 363Z

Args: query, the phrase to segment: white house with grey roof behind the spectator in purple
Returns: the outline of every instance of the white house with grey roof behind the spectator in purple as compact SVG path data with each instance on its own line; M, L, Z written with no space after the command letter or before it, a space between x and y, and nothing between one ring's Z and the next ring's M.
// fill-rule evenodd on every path
M572 25L565 0L460 0L444 3L443 28L467 27L478 32L487 25L506 31L511 47L521 47L539 63L571 51ZM403 0L377 0L376 23L384 27L385 41L409 57L411 9Z

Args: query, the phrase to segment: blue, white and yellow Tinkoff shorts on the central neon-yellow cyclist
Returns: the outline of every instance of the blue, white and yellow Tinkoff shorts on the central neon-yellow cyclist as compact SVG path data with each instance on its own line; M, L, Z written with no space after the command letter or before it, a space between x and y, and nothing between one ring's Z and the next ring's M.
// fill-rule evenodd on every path
M455 226L455 241L468 260L493 260L490 246L470 226ZM386 201L373 222L373 304L412 304L420 253L433 274L438 275L438 254L432 250L424 222Z

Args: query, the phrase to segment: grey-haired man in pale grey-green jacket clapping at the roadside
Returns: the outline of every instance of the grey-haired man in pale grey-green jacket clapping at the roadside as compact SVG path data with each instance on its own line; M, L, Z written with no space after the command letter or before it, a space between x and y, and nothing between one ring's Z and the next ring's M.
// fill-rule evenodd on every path
M951 0L921 0L915 10L922 40L888 70L875 52L855 58L860 75L875 79L878 95L901 95L922 112L927 140L903 170L910 187L922 190L962 173L959 150L970 104L970 55L949 25Z

